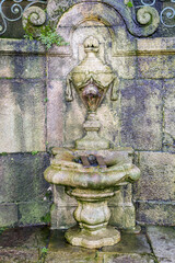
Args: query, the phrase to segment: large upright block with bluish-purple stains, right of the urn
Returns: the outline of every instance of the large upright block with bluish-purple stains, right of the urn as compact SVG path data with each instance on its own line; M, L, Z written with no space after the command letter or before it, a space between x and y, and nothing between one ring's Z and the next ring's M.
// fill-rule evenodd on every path
M122 80L120 126L121 146L162 148L162 81Z

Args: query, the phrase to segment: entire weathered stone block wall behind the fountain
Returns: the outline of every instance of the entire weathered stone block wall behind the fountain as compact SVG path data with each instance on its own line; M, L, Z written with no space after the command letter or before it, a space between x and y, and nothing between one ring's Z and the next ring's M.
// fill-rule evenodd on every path
M66 102L65 91L67 75L82 60L90 34L98 37L101 59L120 80L118 101L112 102L108 91L98 118L102 136L135 149L141 170L132 188L137 221L175 224L175 38L137 38L119 15L115 19L116 37L102 22L84 21L73 31L70 46L54 47L47 55L37 42L1 39L0 226L45 221L50 202L43 171L49 149L73 147L83 134L85 108L75 93L73 102ZM75 204L65 203L63 188L59 191L58 227L67 227ZM130 202L130 192L129 186L121 196L116 194L121 206ZM126 214L118 215L115 199L110 207L112 222L121 215L120 225L127 226L127 205Z

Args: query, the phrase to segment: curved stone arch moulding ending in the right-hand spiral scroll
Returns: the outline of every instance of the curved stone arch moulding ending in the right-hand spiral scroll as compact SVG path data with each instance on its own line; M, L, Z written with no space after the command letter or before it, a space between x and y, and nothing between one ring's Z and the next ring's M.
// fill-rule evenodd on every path
M141 7L136 14L135 8L127 7L124 0L103 0L103 2L92 1L89 3L82 1L78 2L79 3L71 7L60 20L59 16L56 18L55 15L57 10L54 10L54 13L49 12L50 19L54 20L55 23L59 20L59 32L60 34L62 33L61 35L65 37L66 42L70 42L71 28L75 28L82 21L91 19L96 19L105 25L112 26L115 31L116 18L120 14L128 32L135 36L152 35L160 23L159 12L153 7ZM48 2L48 10L50 10L51 4L51 1ZM58 11L59 8L60 7L58 7Z

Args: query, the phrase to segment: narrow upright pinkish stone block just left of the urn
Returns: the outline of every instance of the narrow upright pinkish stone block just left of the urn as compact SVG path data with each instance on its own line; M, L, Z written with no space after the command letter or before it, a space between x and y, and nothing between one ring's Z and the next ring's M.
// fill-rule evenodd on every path
M47 144L49 147L63 145L65 83L49 80L47 84Z

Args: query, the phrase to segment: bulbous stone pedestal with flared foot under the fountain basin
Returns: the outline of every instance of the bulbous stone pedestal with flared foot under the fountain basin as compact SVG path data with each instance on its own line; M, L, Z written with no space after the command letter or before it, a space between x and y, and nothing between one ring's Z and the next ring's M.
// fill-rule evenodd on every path
M110 218L107 201L114 196L114 188L74 188L67 193L78 201L74 218L79 222L79 227L70 228L66 232L69 243L94 249L119 242L119 231L107 226Z

